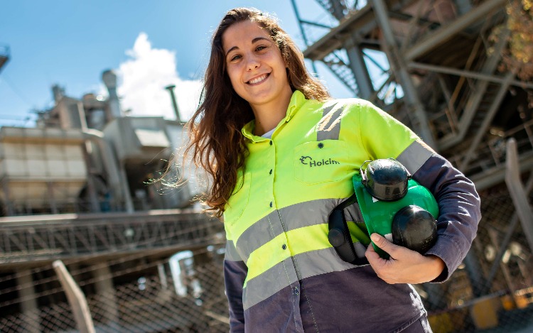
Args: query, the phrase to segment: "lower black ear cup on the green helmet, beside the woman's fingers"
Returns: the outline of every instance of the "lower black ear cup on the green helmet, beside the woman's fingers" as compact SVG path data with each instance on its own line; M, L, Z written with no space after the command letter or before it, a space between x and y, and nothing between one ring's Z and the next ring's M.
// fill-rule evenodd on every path
M421 254L434 246L436 220L430 212L411 204L400 209L392 219L392 242Z

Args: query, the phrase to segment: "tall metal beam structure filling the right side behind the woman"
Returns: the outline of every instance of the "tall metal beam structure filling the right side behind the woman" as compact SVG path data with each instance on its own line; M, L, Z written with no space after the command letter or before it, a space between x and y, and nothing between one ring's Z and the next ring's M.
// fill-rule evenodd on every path
M292 1L305 57L322 62L355 97L411 127L474 180L482 197L483 219L465 265L448 283L421 286L434 329L470 332L500 325L512 332L505 320L518 304L529 312L523 317L516 312L512 321L527 325L533 302L533 221L527 203L533 178L526 185L520 179L533 167L533 77L518 73L520 66L533 64L516 61L510 43L519 36L513 30L518 20L531 21L527 8L505 0L316 3L322 16L309 20ZM517 147L514 163L506 150L510 140ZM506 178L510 165L513 175ZM513 182L506 185L505 179ZM499 297L508 301L508 311L502 312Z

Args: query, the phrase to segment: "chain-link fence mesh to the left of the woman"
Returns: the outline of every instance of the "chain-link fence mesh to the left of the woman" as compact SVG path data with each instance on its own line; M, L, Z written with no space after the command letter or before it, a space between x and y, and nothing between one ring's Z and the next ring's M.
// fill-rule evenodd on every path
M135 255L104 265L68 267L87 296L96 332L227 332L223 249L217 244L181 251L178 255L185 256L177 259ZM30 274L41 277L33 282L33 299L24 295L28 285L0 290L21 295L1 302L5 311L0 332L77 332L72 308L51 267ZM28 310L6 315L16 305Z

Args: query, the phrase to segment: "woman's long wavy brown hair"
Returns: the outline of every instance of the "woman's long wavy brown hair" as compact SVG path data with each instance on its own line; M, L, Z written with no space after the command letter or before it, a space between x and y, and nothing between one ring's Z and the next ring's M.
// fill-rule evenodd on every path
M222 49L222 35L227 28L246 20L257 22L278 46L288 64L287 75L293 92L299 90L307 99L330 98L321 82L306 70L303 54L275 18L253 8L236 8L226 13L212 36L201 104L188 121L190 142L185 149L185 155L192 153L195 165L205 169L211 178L204 200L210 207L207 210L217 217L224 213L237 184L237 170L244 167L248 153L241 129L254 119L248 102L232 87Z

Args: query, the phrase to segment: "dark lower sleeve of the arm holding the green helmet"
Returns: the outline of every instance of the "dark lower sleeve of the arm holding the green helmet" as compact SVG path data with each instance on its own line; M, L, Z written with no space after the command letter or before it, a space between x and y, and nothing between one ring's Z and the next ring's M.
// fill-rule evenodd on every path
M474 184L448 160L434 153L413 179L427 187L438 202L436 244L427 254L441 258L443 273L431 282L447 280L465 258L481 218L480 198Z

